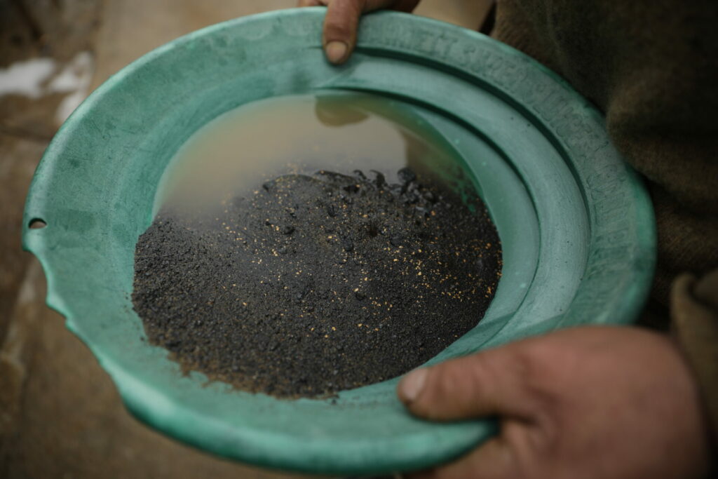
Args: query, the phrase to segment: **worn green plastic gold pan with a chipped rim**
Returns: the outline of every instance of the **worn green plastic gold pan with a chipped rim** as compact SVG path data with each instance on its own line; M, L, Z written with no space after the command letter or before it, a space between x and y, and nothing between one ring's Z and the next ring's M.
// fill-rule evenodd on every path
M557 75L492 39L384 12L352 59L329 65L323 9L232 20L114 75L65 122L37 168L24 247L47 304L110 374L136 417L177 440L256 465L384 473L451 460L495 432L434 424L396 399L398 378L328 399L280 400L185 376L149 345L130 300L137 238L170 159L197 129L251 101L360 90L399 99L465 160L503 243L503 277L477 327L429 363L583 324L629 323L653 274L648 195L604 119ZM45 228L29 228L34 220Z

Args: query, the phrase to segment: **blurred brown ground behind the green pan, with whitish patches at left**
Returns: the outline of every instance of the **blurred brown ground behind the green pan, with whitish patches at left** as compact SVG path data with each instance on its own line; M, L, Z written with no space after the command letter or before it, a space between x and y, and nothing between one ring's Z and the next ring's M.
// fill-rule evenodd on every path
M32 173L89 91L154 47L294 0L0 0L0 477L288 478L144 427L89 350L45 306L20 251ZM490 0L424 0L417 14L476 29Z

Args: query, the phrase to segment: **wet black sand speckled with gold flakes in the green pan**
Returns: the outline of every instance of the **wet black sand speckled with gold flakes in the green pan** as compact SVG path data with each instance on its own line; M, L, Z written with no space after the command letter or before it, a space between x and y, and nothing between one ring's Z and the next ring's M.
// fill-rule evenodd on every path
M474 327L500 276L477 197L320 172L220 214L162 210L136 246L151 343L241 389L317 396L398 376Z

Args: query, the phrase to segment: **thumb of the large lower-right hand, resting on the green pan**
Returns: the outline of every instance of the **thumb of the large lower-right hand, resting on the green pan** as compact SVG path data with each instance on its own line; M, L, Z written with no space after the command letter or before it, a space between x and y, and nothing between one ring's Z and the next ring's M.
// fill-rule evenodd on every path
M520 344L411 371L398 384L399 399L425 419L530 419L535 394L529 391L529 361Z

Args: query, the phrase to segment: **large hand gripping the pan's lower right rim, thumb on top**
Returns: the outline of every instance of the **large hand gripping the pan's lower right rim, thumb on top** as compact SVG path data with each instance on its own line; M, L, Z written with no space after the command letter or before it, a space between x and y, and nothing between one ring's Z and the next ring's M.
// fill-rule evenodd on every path
M437 421L498 416L500 433L411 478L689 479L709 468L707 419L671 340L577 327L409 373L398 395Z

